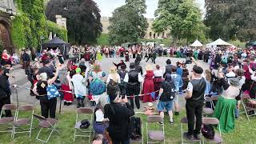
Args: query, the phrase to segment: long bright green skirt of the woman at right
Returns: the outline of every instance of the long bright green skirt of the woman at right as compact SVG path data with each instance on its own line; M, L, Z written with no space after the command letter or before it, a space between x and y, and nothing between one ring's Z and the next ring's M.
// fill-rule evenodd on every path
M218 118L223 132L234 130L234 111L237 105L235 99L226 99L220 96L214 110L214 118Z

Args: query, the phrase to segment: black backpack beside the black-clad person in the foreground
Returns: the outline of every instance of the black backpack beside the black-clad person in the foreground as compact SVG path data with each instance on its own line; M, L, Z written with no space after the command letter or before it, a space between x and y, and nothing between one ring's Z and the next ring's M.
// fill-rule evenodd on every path
M131 117L130 118L130 138L132 140L137 140L142 138L142 127L141 127L141 118L139 117Z

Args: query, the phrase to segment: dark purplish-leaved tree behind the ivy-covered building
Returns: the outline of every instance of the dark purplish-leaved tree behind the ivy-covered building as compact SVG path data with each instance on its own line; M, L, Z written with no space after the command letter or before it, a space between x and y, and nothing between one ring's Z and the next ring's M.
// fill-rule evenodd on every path
M67 19L71 43L94 43L102 33L100 10L93 0L50 0L46 6L46 17L54 22L56 14Z

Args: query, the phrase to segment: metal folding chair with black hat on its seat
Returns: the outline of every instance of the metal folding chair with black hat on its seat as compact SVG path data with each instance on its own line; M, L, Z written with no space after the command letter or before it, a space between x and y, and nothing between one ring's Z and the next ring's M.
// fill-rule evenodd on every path
M81 107L77 110L77 116L76 116L75 126L74 126L74 142L76 137L86 137L86 138L89 138L89 143L90 143L90 136L91 136L90 134L94 133L93 126L92 126L93 114L94 114L94 110L91 110L90 108ZM79 115L83 115L83 116L90 115L91 126L89 126L86 130L80 129L82 120L78 120ZM84 134L77 134L77 130L79 130L80 133L84 133ZM88 133L89 135L86 135Z

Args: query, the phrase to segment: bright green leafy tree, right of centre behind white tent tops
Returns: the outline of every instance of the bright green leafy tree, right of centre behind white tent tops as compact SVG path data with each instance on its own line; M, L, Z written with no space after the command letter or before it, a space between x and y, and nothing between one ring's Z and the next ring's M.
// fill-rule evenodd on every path
M195 38L204 38L201 13L192 0L159 0L153 23L155 32L170 30L174 45L178 39L186 38L187 43Z

